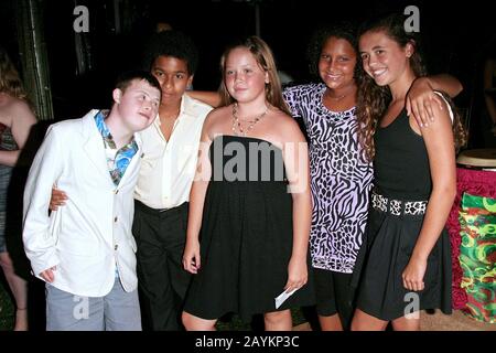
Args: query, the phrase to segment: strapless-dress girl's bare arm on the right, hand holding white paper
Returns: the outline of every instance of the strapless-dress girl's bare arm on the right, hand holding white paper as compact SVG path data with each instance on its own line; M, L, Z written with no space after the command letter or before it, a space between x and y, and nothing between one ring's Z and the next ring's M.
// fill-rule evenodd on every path
M283 129L284 165L293 199L293 248L288 265L287 291L301 288L308 281L306 255L312 223L312 197L310 194L310 167L306 141L294 120Z

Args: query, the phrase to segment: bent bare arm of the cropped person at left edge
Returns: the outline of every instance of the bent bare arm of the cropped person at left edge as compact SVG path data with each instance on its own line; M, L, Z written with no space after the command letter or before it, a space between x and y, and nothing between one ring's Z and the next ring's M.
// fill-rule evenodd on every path
M0 151L0 164L14 167L28 140L31 127L36 122L36 118L28 104L20 99L15 99L12 103L9 114L12 115L11 130L18 149L14 151Z

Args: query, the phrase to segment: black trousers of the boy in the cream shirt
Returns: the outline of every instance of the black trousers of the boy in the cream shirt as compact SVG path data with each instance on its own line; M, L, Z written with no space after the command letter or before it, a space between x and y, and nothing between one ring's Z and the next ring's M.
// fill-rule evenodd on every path
M134 202L132 233L138 244L138 284L144 330L180 330L191 281L182 257L187 203L160 211Z

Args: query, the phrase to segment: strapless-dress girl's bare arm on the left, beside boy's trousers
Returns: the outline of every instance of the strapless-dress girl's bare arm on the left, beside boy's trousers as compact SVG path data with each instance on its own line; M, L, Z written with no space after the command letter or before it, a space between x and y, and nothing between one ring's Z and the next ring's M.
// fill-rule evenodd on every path
M190 192L190 213L187 217L186 245L183 254L184 269L197 274L201 267L200 256L200 229L202 227L203 207L208 182L212 175L211 161L208 159L208 149L212 140L208 136L208 117L205 120L200 140L198 161L195 179Z

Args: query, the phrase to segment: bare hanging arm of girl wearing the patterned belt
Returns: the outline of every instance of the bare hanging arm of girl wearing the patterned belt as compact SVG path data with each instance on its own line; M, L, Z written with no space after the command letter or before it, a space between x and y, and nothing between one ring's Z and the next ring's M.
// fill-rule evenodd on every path
M428 257L446 223L456 194L456 170L453 132L448 105L441 110L433 107L435 119L422 136L429 154L432 192L422 228L410 261L403 270L403 286L422 290Z

